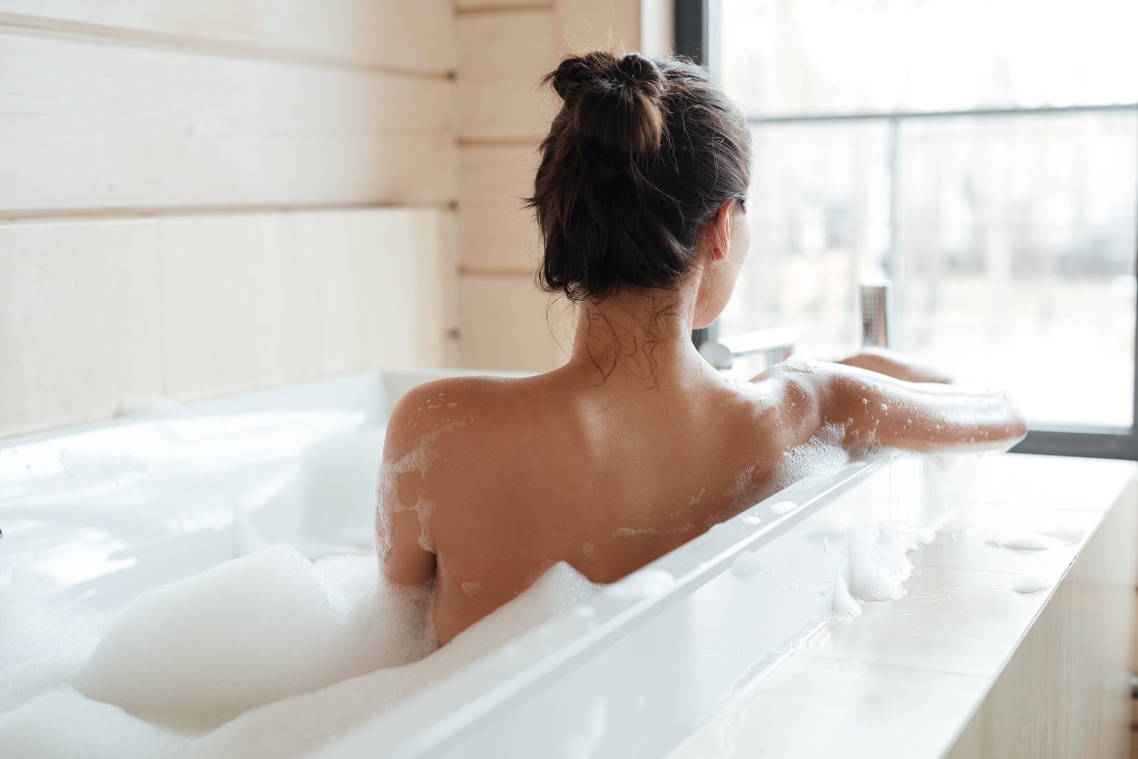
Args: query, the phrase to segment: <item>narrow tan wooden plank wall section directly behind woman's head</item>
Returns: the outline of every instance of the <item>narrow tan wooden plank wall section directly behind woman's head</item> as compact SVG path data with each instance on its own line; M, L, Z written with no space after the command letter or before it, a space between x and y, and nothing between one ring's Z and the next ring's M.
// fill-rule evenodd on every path
M638 0L456 0L459 323L464 366L549 369L575 323L535 286L541 249L521 198L558 102L542 76L569 52L640 48Z

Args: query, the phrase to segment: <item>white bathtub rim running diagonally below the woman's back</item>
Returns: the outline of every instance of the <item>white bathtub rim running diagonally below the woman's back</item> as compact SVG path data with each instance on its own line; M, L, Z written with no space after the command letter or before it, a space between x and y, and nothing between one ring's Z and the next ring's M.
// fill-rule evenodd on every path
M673 604L728 570L743 551L754 550L793 529L833 499L889 466L893 456L857 460L841 470L799 481L739 515L605 586L587 602L588 618L564 614L472 660L363 723L344 737L305 757L410 758L436 756L457 745L487 719L504 714L576 666L599 654L617 640L648 623ZM955 457L949 457L955 458ZM776 503L798 506L783 514ZM753 518L761 522L756 525ZM673 581L641 598L621 598L622 586L640 582L645 573L666 572ZM818 620L814 628L822 626ZM808 626L809 627L809 626ZM805 634L810 628L803 628ZM757 666L769 669L784 658L773 654ZM495 683L487 689L487 683Z

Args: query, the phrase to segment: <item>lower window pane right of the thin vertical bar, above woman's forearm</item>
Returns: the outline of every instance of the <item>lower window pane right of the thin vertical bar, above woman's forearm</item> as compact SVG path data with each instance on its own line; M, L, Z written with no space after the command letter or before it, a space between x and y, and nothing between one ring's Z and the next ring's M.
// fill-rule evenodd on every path
M899 347L1013 387L1033 422L1129 427L1135 114L899 132Z

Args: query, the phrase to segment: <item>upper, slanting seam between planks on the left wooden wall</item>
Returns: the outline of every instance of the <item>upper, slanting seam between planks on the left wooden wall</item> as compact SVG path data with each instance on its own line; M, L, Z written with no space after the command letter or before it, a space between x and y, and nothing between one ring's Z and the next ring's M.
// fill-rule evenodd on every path
M167 34L164 32L152 32L149 30L131 30L119 26L88 24L84 22L39 18L20 14L0 12L0 32L48 37L85 37L90 40L98 40L100 42L158 48L162 50L176 50L180 52L216 56L222 58L266 60L300 66L327 66L332 68L347 68L369 73L394 74L398 76L412 76L420 78L454 80L456 76L456 72L451 68L422 69L410 66L394 66L390 64L366 64L347 58L321 56L319 53L304 50L267 48L246 42L206 40L201 37L182 36L179 34Z

